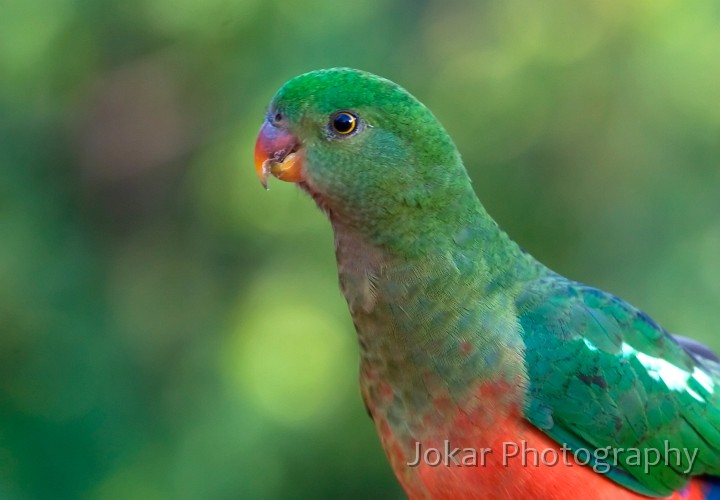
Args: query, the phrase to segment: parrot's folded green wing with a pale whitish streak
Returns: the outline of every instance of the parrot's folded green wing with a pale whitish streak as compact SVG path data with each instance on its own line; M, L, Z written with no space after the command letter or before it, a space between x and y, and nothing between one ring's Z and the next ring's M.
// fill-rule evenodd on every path
M720 474L717 363L684 350L627 302L557 275L534 282L517 307L530 422L593 452L596 470L644 495Z

